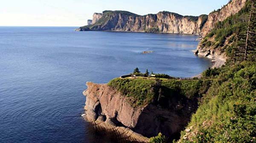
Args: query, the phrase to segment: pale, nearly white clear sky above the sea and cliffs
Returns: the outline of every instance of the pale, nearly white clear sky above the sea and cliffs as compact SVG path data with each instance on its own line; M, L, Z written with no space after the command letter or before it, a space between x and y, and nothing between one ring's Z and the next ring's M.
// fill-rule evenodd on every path
M136 14L170 11L198 16L228 0L0 0L0 26L84 26L94 12L125 10Z

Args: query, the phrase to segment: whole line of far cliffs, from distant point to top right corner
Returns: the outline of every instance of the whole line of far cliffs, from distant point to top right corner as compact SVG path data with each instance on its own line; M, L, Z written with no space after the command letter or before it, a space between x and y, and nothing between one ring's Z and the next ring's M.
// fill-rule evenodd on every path
M236 14L247 0L232 0L218 11L208 15L183 16L162 11L144 16L128 11L103 11L93 14L93 25L83 26L77 31L132 31L162 32L175 34L196 34L203 37L215 27L219 21Z

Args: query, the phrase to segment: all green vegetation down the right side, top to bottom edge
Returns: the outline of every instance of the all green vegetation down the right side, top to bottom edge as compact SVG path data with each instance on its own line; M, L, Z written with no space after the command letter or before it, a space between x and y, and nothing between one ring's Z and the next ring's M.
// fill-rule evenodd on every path
M256 143L256 6L252 2L248 0L244 9L219 22L204 38L204 46L225 51L229 60L226 66L203 73L213 79L212 84L182 132L181 143Z

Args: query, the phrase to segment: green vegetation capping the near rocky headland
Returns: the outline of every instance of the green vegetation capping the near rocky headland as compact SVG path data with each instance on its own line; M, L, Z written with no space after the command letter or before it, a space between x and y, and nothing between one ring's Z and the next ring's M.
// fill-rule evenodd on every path
M211 84L211 80L175 80L158 78L116 78L108 85L131 97L132 106L144 106L154 101L163 101L172 97L186 97L192 99L201 97Z

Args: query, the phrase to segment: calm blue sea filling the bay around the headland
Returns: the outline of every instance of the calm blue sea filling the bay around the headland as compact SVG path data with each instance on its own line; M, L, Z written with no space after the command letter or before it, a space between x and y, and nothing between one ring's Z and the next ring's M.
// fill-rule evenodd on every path
M0 142L92 143L85 83L142 72L191 77L210 66L197 36L0 27ZM142 54L143 51L154 51Z

